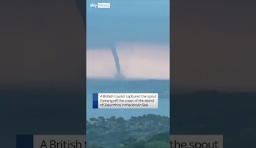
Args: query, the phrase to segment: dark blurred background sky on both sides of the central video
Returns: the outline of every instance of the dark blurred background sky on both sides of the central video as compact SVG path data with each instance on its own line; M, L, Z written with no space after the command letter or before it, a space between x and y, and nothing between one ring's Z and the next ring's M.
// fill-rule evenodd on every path
M256 91L256 2L171 5L172 91ZM75 1L3 0L0 8L1 88L81 87L86 36Z

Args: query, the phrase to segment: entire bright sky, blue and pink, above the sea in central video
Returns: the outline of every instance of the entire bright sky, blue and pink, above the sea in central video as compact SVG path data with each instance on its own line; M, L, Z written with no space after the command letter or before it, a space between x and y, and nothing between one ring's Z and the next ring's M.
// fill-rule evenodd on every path
M90 7L98 2L108 2L110 8ZM169 79L168 0L92 0L88 1L87 8L88 78L115 79L122 75L125 79ZM113 49L117 51L116 57L111 54ZM117 69L121 69L121 74Z

